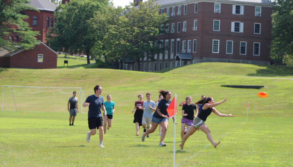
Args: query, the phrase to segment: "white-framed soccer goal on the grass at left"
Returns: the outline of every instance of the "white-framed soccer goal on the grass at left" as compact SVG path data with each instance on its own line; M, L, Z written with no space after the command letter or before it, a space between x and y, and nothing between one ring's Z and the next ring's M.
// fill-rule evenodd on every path
M78 98L80 113L86 99L81 87L2 86L2 111L68 112L67 104L73 91Z

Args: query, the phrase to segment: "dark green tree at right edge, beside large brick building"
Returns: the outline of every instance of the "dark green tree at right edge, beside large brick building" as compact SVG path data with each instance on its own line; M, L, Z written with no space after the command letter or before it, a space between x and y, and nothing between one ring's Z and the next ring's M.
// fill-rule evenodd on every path
M293 58L293 0L277 0L273 7L270 57L275 64L286 64Z

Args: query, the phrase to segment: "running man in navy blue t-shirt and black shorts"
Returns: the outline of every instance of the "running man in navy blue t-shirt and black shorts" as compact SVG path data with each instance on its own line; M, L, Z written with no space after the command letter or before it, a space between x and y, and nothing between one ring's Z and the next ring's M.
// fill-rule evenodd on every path
M96 134L96 128L99 129L100 136L100 147L103 147L103 139L104 139L104 128L103 128L103 118L101 109L105 112L105 116L107 116L107 111L104 106L104 98L100 96L102 94L102 87L100 85L96 85L94 87L95 94L88 96L88 98L83 103L83 106L89 106L88 112L88 124L90 128L90 132L87 134L87 142L90 142L91 135Z

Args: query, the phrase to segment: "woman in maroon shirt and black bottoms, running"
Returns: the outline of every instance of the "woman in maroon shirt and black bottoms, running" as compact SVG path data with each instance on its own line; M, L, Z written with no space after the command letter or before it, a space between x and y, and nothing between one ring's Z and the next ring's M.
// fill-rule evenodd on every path
M143 94L139 94L138 97L139 97L139 100L135 102L135 107L132 111L132 113L136 111L134 115L133 123L136 124L137 136L139 136L140 128L143 125L142 121L143 121L143 114L144 114L144 110L139 109L139 107L142 107L144 104Z

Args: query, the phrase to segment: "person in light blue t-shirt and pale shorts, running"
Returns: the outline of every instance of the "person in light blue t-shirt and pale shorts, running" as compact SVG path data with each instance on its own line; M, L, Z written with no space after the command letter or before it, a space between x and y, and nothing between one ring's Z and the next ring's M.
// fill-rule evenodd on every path
M143 128L144 128L144 133L146 132L146 127L149 129L151 127L151 116L152 116L152 111L155 110L155 104L153 101L150 100L150 93L146 93L146 101L144 101L144 104L142 107L139 107L140 109L144 110L143 114ZM149 137L148 135L146 137Z

